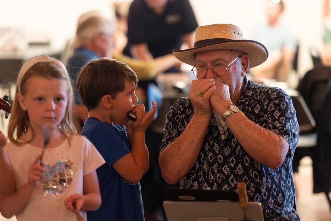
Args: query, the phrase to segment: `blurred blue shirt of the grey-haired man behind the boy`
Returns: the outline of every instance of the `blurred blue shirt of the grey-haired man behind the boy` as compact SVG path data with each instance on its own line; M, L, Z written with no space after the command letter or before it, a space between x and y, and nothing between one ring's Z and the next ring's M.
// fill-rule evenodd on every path
M81 67L87 62L99 58L96 54L86 48L76 48L67 63L67 71L71 79L75 104L83 104L77 91L77 74Z

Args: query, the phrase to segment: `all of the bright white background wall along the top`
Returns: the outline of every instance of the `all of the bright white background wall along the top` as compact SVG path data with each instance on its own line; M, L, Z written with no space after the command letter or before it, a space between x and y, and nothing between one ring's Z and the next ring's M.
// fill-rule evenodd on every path
M46 33L52 48L62 48L74 35L79 15L98 9L112 15L114 0L0 0L0 28L21 27L28 35ZM120 1L120 0L119 0ZM130 0L122 0L130 1ZM190 0L199 25L232 23L244 33L251 24L264 19L263 0ZM321 0L285 0L284 21L291 27L301 44L299 73L312 67L309 45L320 45L322 33ZM38 4L37 9L36 5ZM50 5L50 6L49 6ZM1 34L1 33L0 33Z

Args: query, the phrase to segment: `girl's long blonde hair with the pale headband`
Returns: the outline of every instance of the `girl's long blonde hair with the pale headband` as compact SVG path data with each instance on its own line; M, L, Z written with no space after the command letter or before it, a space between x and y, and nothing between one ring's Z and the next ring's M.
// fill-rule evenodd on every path
M34 131L29 122L27 111L24 111L17 100L17 94L24 95L26 93L28 80L32 77L44 77L47 79L60 79L66 82L68 88L68 105L66 113L60 124L58 125L59 132L69 138L76 133L73 125L72 108L73 108L73 89L67 70L64 65L55 58L50 58L47 55L40 55L28 60L19 73L16 89L15 99L11 110L11 116L8 124L7 136L8 139L16 145L23 145L29 143L34 139ZM27 141L19 141L19 139L31 127L32 138Z

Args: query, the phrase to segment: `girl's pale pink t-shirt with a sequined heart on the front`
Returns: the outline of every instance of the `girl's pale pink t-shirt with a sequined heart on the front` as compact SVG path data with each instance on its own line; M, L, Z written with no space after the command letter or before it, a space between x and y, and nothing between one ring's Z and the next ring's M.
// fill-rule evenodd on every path
M42 148L30 144L7 144L6 153L15 172L16 189L28 182L29 167L41 152ZM74 135L70 146L66 140L58 147L46 148L43 162L43 182L16 215L17 220L77 221L76 215L65 207L64 200L72 194L83 194L83 176L103 165L105 160L87 138ZM86 212L81 210L79 213L86 220Z

